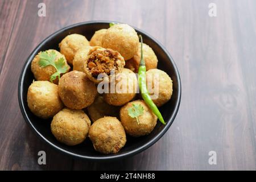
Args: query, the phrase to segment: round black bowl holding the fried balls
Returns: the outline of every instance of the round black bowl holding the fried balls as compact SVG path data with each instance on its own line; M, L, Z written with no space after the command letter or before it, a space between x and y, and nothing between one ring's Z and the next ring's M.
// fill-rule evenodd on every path
M95 31L100 30L101 28L109 28L110 22L84 22L79 24L74 24L72 26L68 26L63 28L54 34L48 36L48 38L44 39L42 43L38 45L28 57L22 72L19 78L18 85L18 98L19 98L19 106L22 111L22 115L27 122L27 124L31 127L33 131L35 131L36 135L44 142L48 143L50 146L55 148L58 151L63 152L64 154L68 154L81 159L91 159L91 160L110 160L110 159L121 159L127 156L131 156L137 154L146 148L150 147L156 141L158 141L164 133L169 129L174 122L177 111L180 105L180 97L181 97L181 85L180 85L180 77L179 72L177 71L174 60L167 52L167 50L152 36L146 34L135 28L138 34L143 36L143 42L148 44L155 52L158 57L159 63L158 68L165 71L173 80L173 93L171 100L168 101L165 105L160 107L160 111L163 115L164 120L167 122L166 125L163 125L158 121L155 129L147 136L139 137L139 138L131 138L127 137L127 142L125 147L123 147L117 154L110 155L102 155L94 150L92 143L88 138L86 138L85 142L77 145L77 146L65 146L64 144L57 142L57 140L53 137L51 133L50 123L51 119L45 121L44 119L40 119L31 113L30 109L27 106L27 90L28 86L32 83L34 76L31 72L31 61L32 59L40 52L45 51L47 49L57 49L59 50L59 43L61 40L73 33L85 35L88 40L92 37Z

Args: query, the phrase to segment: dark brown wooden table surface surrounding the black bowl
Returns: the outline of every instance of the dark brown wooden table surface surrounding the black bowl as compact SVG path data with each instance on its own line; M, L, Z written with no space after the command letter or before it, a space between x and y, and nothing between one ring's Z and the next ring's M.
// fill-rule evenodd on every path
M38 4L46 3L46 17ZM208 15L215 3L217 16ZM256 1L0 0L0 169L256 169ZM181 105L168 132L141 154L116 162L72 159L24 122L18 78L48 35L88 20L116 20L159 40L176 61ZM47 164L38 164L38 151ZM210 165L209 151L217 164Z

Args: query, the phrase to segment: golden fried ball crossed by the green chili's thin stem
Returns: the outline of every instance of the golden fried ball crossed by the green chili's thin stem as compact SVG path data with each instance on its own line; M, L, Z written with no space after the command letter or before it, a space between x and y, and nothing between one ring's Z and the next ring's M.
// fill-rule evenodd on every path
M143 59L146 64L146 69L154 69L158 67L158 58L155 52L147 44L143 43ZM138 73L139 63L141 62L141 46L139 46L137 53L129 60L125 62L125 67L131 69L131 71Z

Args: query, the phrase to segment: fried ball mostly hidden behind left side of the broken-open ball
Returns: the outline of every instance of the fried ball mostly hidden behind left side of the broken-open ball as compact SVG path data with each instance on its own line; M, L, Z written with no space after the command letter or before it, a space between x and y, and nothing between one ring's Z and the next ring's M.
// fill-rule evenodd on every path
M83 47L76 52L75 57L73 59L73 70L80 72L84 71L84 61L91 48L91 46Z

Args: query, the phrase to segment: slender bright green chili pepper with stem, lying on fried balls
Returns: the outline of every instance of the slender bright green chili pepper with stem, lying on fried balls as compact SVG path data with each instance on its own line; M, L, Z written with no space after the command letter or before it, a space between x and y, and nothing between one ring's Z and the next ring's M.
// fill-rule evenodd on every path
M139 71L138 71L139 90L141 91L142 98L146 102L148 107L150 107L152 112L158 117L159 121L165 125L166 122L164 122L162 114L158 110L158 107L156 107L154 102L151 100L150 94L148 94L148 91L147 91L146 64L143 59L143 50L142 50L143 40L141 35L139 35L139 39L141 39L141 63L139 63Z

